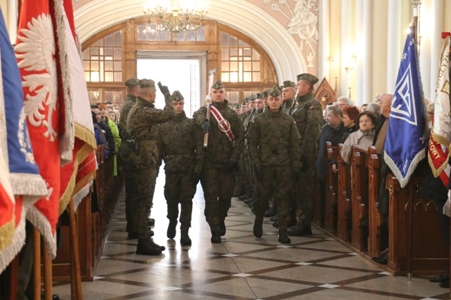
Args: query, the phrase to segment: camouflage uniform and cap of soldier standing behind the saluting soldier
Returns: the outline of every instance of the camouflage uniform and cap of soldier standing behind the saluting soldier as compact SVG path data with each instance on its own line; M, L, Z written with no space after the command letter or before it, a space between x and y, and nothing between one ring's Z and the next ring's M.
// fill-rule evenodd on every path
M135 78L133 78L135 79ZM133 79L127 80L126 85L130 82L130 85L139 85L138 80L133 82ZM124 170L124 179L126 186L126 220L127 220L127 231L131 231L131 210L135 207L135 202L133 201L136 197L136 192L133 190L133 186L135 186L135 182L133 182L133 169L128 165L128 157L130 156L130 148L128 146L127 140L130 139L130 135L127 132L127 116L130 109L136 103L136 96L132 94L127 94L126 101L124 105L121 107L121 118L119 119L119 136L121 136L121 145L119 146L119 150L117 152L117 157L119 158L119 166L122 165L122 169ZM135 193L135 195L133 195Z

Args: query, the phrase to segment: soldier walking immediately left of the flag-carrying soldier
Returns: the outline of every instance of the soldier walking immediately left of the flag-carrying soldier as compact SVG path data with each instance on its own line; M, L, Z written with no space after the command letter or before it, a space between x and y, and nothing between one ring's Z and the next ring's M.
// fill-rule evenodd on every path
M164 159L164 197L167 202L169 227L167 237L176 236L178 204L180 203L180 244L191 245L188 231L191 227L193 197L202 171L201 130L194 125L183 110L185 100L180 91L174 91L171 99L176 117L158 127L158 150Z

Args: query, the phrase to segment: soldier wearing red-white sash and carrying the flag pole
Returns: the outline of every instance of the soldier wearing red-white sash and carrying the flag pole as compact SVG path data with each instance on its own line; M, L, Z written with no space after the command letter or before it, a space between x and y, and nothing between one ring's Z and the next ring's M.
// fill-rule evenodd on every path
M243 123L238 114L228 107L228 101L224 99L225 93L226 90L220 80L217 80L210 89L212 107L222 115L223 119L221 120L219 116L219 120L224 132L214 117L212 107L210 121L206 118L207 107L201 107L194 113L196 124L201 126L204 134L208 132L201 184L205 197L205 219L210 225L211 242L214 243L221 242L221 236L226 234L225 220L235 188L235 169L244 147ZM229 138L226 134L232 136Z

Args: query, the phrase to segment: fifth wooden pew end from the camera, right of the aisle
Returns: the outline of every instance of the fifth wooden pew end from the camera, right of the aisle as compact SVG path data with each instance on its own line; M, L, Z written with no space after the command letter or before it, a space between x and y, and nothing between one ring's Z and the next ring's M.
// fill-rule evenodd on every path
M337 232L337 215L338 215L338 174L332 172L330 164L332 159L337 161L338 147L332 147L332 143L327 141L327 159L326 168L326 191L325 191L325 220L324 228L331 232Z

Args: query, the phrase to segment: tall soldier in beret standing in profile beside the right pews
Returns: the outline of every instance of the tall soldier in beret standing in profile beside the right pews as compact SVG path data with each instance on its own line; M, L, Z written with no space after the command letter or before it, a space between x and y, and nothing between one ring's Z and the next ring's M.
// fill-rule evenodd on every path
M313 96L313 86L318 78L309 73L298 75L298 103L291 116L300 133L300 162L301 172L293 187L296 199L297 224L288 229L290 236L308 236L312 234L314 213L314 162L318 155L316 141L321 133L323 123L323 109Z

